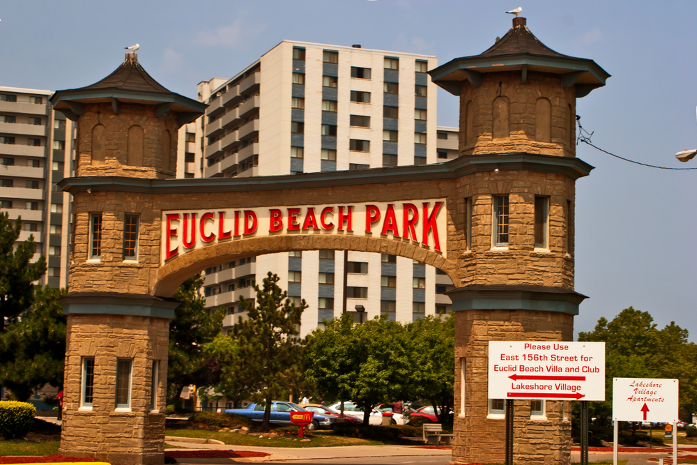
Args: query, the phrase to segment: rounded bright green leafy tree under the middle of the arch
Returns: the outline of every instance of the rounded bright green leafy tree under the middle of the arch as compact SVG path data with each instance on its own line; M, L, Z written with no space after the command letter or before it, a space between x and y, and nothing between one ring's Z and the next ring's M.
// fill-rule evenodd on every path
M351 399L363 409L363 425L382 402L413 392L408 335L404 326L385 317L353 325L350 315L315 330L307 354L306 376L326 395Z

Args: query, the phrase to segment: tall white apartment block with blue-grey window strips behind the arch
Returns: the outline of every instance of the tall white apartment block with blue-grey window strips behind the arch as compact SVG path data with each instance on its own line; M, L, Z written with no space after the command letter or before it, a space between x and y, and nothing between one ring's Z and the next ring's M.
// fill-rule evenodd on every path
M204 177L233 177L455 158L457 128L436 127L436 86L427 75L435 66L434 56L284 41L235 77L199 84L209 106L180 131L181 175L198 177L198 163ZM342 312L343 252L267 254L206 270L206 305L228 308L225 328L240 316L239 297L254 298L252 279L269 270L289 296L307 301L302 335ZM348 252L347 273L346 307L362 305L369 318L406 322L450 310L442 294L452 282L431 266Z

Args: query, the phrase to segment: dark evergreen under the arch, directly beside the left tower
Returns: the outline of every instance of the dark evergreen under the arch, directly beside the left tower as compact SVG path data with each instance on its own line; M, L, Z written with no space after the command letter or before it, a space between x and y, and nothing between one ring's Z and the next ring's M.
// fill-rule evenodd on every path
M183 282L174 295L181 305L169 324L167 394L172 402L184 386L210 384L210 367L202 347L220 333L225 310L206 310L206 298L199 294L203 284L199 273Z

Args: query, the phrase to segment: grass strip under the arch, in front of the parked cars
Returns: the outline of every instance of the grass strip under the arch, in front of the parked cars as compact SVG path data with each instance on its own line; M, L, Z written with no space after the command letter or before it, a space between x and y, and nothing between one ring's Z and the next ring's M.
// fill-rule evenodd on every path
M301 443L300 441L292 441L292 439L298 437L297 431L297 429L292 431L291 428L284 428L284 431L281 432L283 434L279 435L277 438L268 438L266 434L265 437L260 438L260 433L219 433L206 431L204 429L168 429L165 434L167 436L183 436L185 438L217 439L218 441L223 441L230 445L248 445L253 447L306 448L339 445L385 445L385 443L381 441L338 436L331 430L316 431L312 434L307 434L307 432L305 432L305 437L310 439L310 441ZM288 441L288 439L291 439L291 441Z

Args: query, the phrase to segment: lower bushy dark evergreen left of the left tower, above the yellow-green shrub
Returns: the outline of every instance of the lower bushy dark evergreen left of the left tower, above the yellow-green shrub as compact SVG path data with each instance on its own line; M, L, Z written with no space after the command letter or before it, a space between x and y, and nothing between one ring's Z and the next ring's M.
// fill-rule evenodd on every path
M0 383L26 401L45 384L63 388L66 317L59 298L66 289L38 286L34 305L0 335Z

